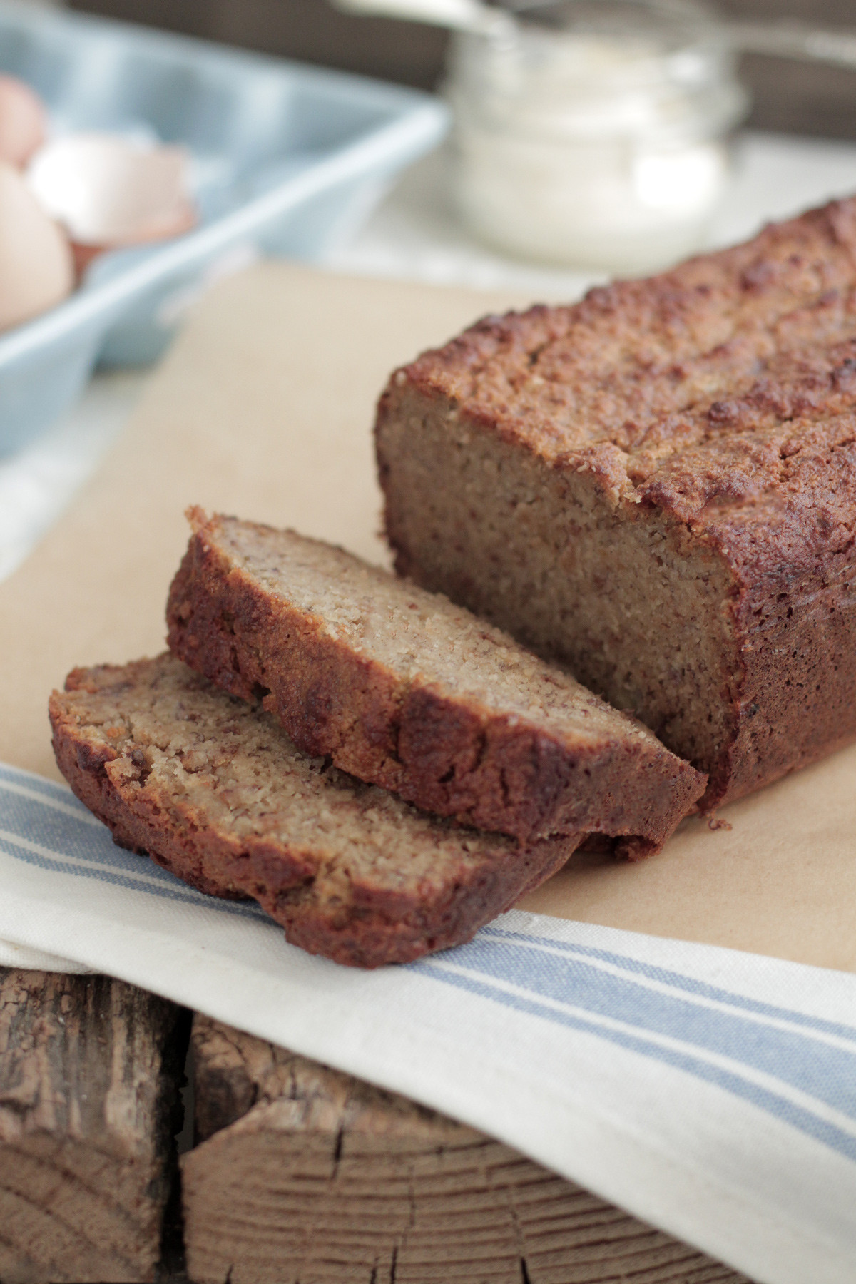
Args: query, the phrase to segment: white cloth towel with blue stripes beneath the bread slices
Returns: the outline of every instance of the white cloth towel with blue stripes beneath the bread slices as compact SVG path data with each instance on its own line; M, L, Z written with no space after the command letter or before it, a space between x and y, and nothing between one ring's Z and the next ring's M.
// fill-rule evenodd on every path
M121 977L463 1120L760 1284L856 1280L856 976L512 912L359 972L0 765L0 962Z

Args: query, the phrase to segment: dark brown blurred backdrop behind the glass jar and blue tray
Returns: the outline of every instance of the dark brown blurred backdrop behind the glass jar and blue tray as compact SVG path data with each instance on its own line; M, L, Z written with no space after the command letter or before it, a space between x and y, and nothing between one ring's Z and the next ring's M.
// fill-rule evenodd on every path
M71 0L69 8L418 89L436 86L448 41L436 27L355 18L327 0ZM720 0L719 9L738 18L856 26L853 0ZM749 127L856 139L856 71L747 54L740 76L753 95Z

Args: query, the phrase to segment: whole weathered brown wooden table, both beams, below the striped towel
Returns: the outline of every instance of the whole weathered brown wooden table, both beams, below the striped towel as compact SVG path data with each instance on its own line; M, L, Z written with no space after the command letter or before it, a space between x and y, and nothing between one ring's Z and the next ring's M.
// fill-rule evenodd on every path
M746 1284L402 1097L109 977L0 968L0 1281L182 1279Z

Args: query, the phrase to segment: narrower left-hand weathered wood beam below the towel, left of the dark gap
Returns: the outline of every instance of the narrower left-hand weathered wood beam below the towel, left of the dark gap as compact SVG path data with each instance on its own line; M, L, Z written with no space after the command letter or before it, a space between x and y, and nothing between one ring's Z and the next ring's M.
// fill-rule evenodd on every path
M154 1279L181 1066L175 1004L0 968L4 1284Z

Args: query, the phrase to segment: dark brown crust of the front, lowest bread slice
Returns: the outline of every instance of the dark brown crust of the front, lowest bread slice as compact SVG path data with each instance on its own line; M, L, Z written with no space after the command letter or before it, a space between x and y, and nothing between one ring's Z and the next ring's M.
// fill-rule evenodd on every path
M76 669L65 691L86 693L132 684L157 664L144 660ZM54 691L49 711L63 776L119 846L150 855L209 895L258 901L285 928L291 944L350 967L407 963L470 940L484 923L560 869L579 841L535 842L524 850L498 838L481 859L462 860L456 876L430 896L357 878L349 885L348 899L332 903L316 894L326 859L321 837L317 844L237 840L204 810L153 785L131 746L117 749L87 733L80 705L68 695ZM466 838L466 831L461 833Z

